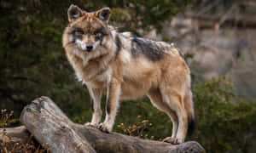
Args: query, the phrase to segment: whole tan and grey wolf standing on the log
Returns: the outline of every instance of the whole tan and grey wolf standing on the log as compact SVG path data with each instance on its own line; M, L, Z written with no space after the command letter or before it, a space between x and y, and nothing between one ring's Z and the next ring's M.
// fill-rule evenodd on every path
M183 143L194 130L195 112L189 66L179 50L166 42L117 31L108 25L110 8L87 12L72 4L67 16L63 48L93 99L93 116L86 125L111 132L119 99L147 95L172 120L172 136L164 141ZM103 94L107 96L106 117L100 123Z

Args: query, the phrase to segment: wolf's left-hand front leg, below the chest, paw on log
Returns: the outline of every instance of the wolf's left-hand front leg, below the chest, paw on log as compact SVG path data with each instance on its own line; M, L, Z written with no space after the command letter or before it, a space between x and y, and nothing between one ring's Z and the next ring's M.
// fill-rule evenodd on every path
M91 122L85 123L85 125L90 126L98 126L98 124L102 120L102 108L101 108L101 101L102 101L102 91L97 88L88 88L90 97L92 99L91 105L92 105L92 119Z

